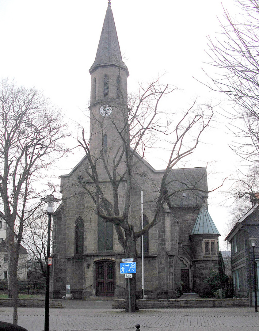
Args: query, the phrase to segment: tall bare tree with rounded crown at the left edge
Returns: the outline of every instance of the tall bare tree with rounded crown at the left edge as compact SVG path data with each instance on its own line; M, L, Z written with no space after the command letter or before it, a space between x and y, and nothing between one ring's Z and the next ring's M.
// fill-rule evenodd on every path
M36 181L53 159L66 152L61 139L66 126L59 109L41 92L0 83L0 216L7 223L8 286L17 324L17 265L24 224L39 197Z

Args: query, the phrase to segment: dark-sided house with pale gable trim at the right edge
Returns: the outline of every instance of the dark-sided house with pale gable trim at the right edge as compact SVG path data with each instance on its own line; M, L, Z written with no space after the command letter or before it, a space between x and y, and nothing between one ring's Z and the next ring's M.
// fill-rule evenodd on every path
M231 244L232 277L236 295L254 296L254 276L252 267L252 248L249 238L258 238L255 245L257 278L259 275L259 208L258 203L241 217L225 240ZM258 279L257 279L258 284ZM257 294L258 296L258 294Z

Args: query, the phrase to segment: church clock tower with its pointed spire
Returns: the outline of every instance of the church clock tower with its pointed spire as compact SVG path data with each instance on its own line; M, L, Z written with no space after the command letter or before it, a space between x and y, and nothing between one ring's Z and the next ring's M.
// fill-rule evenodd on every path
M118 154L121 132L127 121L127 78L129 71L122 60L111 2L104 18L101 36L91 74L90 150ZM128 134L125 132L125 135ZM111 158L110 158L111 159Z

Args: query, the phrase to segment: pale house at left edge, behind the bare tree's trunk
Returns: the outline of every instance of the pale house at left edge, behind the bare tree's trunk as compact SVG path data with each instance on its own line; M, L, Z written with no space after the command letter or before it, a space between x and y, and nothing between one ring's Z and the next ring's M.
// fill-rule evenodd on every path
M6 248L6 222L0 220L0 280L8 279L8 254ZM19 260L18 260L18 280L27 280L27 251L20 245Z

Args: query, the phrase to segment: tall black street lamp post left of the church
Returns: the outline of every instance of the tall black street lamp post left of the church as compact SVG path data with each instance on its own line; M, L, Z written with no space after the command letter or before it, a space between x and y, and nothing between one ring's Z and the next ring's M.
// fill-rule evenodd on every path
M45 289L45 320L44 320L44 331L49 331L49 256L50 256L50 228L51 228L51 216L54 211L54 202L60 201L55 199L53 195L48 195L46 198L40 199L46 202L48 219L48 238L47 238L47 257L46 257L46 289Z

